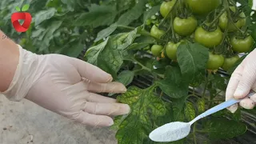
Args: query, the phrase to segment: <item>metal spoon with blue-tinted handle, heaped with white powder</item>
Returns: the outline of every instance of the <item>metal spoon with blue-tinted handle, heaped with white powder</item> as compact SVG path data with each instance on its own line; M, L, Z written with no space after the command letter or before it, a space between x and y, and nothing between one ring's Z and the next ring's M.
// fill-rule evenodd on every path
M251 90L247 97L250 98L253 94L255 94L255 92ZM220 110L226 109L227 107L232 106L235 103L241 102L242 99L232 98L226 102L222 102L218 106L214 106L210 110L206 110L206 112L198 115L198 117L194 118L191 122L167 123L153 130L150 133L149 137L154 142L174 142L179 139L185 138L188 134L190 134L190 126L194 124L194 122L198 121L201 118L205 118L210 114L214 114Z

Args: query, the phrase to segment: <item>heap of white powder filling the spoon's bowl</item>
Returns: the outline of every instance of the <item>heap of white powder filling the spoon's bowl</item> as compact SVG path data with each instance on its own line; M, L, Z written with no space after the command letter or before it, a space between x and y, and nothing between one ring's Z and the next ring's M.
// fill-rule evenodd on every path
M190 123L170 122L150 133L154 142L174 142L190 134Z

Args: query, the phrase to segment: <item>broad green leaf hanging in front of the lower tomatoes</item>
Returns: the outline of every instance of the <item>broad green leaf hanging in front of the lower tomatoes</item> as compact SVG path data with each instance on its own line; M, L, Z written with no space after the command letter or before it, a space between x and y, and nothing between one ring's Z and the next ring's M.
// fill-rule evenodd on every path
M191 81L206 69L209 53L205 46L198 43L182 42L178 46L177 58L182 75Z

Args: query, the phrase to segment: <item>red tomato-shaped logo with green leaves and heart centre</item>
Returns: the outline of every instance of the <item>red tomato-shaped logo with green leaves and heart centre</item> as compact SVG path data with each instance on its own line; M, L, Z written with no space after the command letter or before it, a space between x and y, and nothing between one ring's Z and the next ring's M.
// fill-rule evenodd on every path
M19 12L16 12L11 15L11 22L14 26L14 29L18 32L26 32L30 28L30 24L32 21L32 17L30 13L25 12L26 10L29 10L30 5L24 5L22 6L22 10L16 6L16 10ZM18 20L24 20L23 24L21 25Z

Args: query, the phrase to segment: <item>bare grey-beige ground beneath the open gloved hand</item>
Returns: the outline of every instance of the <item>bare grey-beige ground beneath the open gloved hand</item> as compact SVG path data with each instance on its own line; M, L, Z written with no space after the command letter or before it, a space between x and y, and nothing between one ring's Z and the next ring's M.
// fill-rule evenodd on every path
M116 144L114 131L70 122L26 100L0 95L0 144Z

